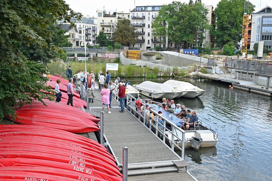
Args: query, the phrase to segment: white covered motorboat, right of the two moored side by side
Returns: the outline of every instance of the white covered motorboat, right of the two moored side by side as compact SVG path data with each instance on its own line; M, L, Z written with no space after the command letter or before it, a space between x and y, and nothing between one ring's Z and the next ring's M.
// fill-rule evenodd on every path
M204 94L204 90L200 89L188 82L176 81L176 80L168 80L164 82L164 84L171 85L176 88L176 91L182 91L182 97L194 98L197 96L201 96Z

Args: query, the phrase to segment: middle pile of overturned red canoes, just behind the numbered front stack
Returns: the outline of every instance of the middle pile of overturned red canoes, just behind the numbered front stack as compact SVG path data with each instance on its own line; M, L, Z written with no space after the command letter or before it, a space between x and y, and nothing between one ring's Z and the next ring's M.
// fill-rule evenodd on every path
M66 104L49 100L44 101L47 106L34 100L32 108L29 104L24 105L22 108L15 108L17 117L14 118L14 121L18 124L44 126L72 133L99 130L96 123L100 120L96 117Z

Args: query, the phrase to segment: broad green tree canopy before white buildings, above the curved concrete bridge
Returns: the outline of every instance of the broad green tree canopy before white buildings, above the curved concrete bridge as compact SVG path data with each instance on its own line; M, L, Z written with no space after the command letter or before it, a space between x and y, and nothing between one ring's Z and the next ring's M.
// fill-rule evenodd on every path
M189 4L173 1L163 5L152 25L154 35L167 36L170 42L184 47L188 43L202 43L204 30L209 28L207 13L201 1Z

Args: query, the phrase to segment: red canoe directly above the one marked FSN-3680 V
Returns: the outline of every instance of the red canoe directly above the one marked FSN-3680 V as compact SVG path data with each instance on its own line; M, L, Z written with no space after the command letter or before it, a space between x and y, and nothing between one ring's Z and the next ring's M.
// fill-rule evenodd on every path
M40 147L40 148L39 148ZM43 148L43 149L42 149ZM111 170L112 172L115 172L116 170L119 170L119 168L116 168L116 165L112 165L112 164L108 164L105 161L107 160L98 160L96 158L90 157L90 156L81 156L79 153L76 152L72 152L72 151L68 151L68 150L57 150L55 149L48 149L46 147L41 147L41 146L37 146L37 145L33 145L33 147L3 147L0 146L0 152L17 152L17 151L22 151L22 152L29 152L29 154L31 154L32 152L37 152L37 153L50 153L53 155L59 155L59 156L64 156L67 157L66 159L70 159L70 158L74 158L75 160L80 160L80 161L85 161L88 162L90 164L95 164L96 166L98 166L100 169L100 167L102 168L107 168L108 170Z

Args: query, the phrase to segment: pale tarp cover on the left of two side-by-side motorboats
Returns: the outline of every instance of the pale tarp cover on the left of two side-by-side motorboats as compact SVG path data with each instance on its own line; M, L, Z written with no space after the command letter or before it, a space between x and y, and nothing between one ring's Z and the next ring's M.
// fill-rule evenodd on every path
M150 81L144 81L143 83L140 83L135 86L136 89L146 91L146 92L152 92L154 94L159 94L162 92L174 92L175 89L171 85L168 84L160 84Z

